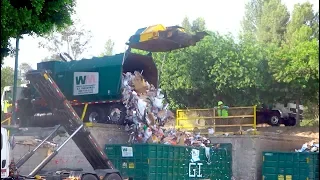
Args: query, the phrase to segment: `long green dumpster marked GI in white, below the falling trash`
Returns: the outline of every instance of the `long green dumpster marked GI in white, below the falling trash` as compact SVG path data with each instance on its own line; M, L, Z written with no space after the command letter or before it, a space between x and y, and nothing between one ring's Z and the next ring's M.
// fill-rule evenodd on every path
M123 176L133 180L220 179L232 177L232 145L193 148L164 144L106 145ZM208 158L209 157L209 158Z

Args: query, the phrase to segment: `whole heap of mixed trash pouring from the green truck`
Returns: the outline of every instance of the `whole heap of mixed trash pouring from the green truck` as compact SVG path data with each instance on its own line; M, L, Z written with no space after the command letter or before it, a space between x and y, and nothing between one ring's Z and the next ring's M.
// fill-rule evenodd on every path
M164 125L174 119L173 113L164 105L161 89L156 89L143 78L143 72L123 74L122 95L129 120L125 130L129 143L161 143L205 147L210 140L199 132L180 132Z

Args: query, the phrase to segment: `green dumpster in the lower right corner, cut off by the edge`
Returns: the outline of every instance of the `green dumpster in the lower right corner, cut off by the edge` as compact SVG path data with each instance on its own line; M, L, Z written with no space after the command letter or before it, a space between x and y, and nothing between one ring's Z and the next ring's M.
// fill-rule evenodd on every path
M318 180L319 153L263 152L263 180Z

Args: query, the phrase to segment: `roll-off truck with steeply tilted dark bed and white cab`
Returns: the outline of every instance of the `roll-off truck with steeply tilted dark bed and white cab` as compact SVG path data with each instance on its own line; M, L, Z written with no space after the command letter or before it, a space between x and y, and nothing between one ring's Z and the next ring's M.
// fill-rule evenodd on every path
M119 171L114 168L102 148L98 145L83 121L72 108L69 101L58 88L47 71L30 71L26 74L39 95L47 102L47 107L56 115L59 126L50 133L32 151L26 153L17 162L11 157L9 134L1 125L1 179L47 179L47 180L122 180ZM50 155L41 161L28 175L20 175L19 168L26 163L36 150L49 138L52 138L60 127L64 127L69 137L61 143ZM41 170L59 153L61 148L73 140L94 171L85 172L82 169L65 169L41 174ZM88 164L88 165L89 165Z

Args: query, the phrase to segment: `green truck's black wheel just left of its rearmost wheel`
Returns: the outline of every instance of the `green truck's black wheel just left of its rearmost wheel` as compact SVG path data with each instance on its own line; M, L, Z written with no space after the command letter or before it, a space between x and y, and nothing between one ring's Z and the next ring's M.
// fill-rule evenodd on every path
M94 105L88 105L83 122L103 123L105 121L105 118L106 113L103 108Z

